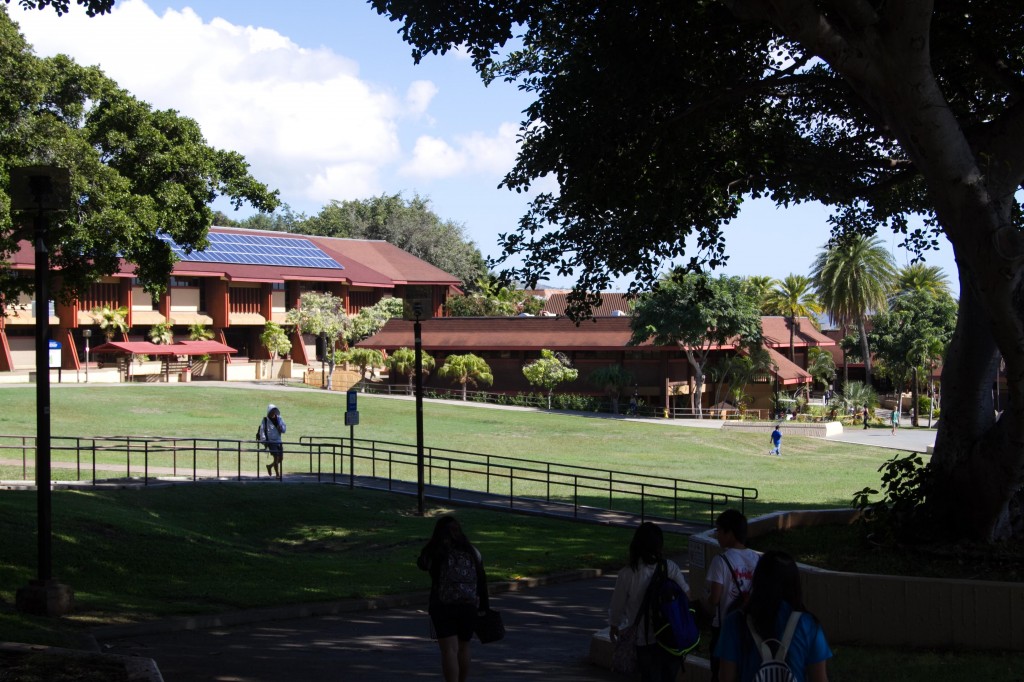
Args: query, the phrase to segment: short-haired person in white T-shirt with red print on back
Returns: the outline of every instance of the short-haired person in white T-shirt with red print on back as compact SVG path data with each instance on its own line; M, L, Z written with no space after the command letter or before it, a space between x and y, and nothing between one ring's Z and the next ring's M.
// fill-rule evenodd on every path
M726 509L715 519L715 537L724 551L708 567L708 611L711 613L711 679L718 682L719 659L715 645L722 624L734 610L743 608L751 596L754 569L761 555L746 548L746 517L737 509Z

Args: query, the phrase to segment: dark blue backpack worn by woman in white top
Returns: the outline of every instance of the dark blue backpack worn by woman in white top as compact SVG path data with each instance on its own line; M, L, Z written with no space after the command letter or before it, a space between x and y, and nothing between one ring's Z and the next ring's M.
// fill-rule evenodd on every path
M678 583L669 580L669 565L664 559L657 562L647 586L637 614L638 621L641 617L645 617L647 632L653 632L657 644L674 656L685 655L700 643L690 600Z

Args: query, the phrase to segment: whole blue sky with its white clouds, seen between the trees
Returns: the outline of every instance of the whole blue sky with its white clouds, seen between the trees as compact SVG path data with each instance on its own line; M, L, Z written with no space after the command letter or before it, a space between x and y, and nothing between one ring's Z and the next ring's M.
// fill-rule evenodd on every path
M154 106L196 119L211 144L243 154L297 212L418 194L497 256L497 236L526 210L528 196L498 184L529 100L514 85L484 87L459 53L415 66L398 26L360 0L118 0L113 14L91 19L78 8L58 18L6 7L37 54L98 65ZM727 228L722 271L807 274L828 238L826 216L817 205L748 202ZM882 238L906 264L899 240ZM928 262L958 291L944 240Z

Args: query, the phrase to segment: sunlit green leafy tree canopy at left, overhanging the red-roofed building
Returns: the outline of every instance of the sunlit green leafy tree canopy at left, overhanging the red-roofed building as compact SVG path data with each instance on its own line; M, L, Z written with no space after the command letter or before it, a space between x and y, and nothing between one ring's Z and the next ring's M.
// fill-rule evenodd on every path
M101 20L101 19L97 19ZM191 119L154 111L94 67L66 56L36 57L0 7L0 295L32 290L31 279L6 267L22 240L32 241L32 216L12 220L11 168L52 165L71 174L71 201L50 220L50 263L61 294L81 292L121 259L137 266L151 291L166 285L173 265L163 230L201 248L219 195L236 207L278 205L233 152L207 144Z

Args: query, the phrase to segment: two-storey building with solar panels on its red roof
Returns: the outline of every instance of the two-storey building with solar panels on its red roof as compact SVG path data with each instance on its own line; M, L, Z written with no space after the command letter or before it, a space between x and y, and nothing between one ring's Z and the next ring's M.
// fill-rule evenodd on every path
M333 294L345 301L349 314L383 298L404 298L410 287L426 292L434 314L441 314L459 281L387 242L292 235L236 227L211 227L210 247L184 253L169 238L179 261L164 294L154 299L134 278L134 266L123 262L118 272L102 278L71 303L51 301L47 306L50 337L61 344L61 365L77 370L86 339L93 330L94 343L103 335L91 311L125 307L128 338L115 341L144 342L158 324L173 325L177 338L187 328L208 327L214 339L238 351L233 361L266 358L259 335L267 322L284 323L297 307L303 292ZM35 270L32 245L23 242L10 266L31 278ZM59 276L59 272L54 272ZM0 372L35 368L35 301L28 296L8 302L0 316ZM293 334L292 357L306 365L317 357L317 339Z

